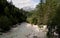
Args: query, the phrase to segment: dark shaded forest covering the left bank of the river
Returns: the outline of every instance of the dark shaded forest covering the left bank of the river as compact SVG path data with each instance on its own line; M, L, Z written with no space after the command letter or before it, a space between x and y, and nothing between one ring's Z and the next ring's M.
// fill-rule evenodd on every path
M0 31L8 31L15 24L26 21L28 12L15 7L7 0L0 0Z

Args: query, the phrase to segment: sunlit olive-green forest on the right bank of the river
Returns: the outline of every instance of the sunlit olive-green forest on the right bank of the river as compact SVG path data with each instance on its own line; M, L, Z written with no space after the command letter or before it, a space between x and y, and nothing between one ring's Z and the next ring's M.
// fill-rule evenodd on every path
M60 1L41 0L35 10L30 11L27 21L31 24L47 25L48 38L54 37L54 33L60 38Z

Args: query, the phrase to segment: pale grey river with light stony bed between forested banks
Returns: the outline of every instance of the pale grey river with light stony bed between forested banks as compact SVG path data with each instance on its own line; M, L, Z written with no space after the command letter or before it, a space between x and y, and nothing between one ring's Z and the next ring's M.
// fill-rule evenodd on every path
M40 29L37 25L21 23L8 33L0 35L0 38L46 38L45 28Z

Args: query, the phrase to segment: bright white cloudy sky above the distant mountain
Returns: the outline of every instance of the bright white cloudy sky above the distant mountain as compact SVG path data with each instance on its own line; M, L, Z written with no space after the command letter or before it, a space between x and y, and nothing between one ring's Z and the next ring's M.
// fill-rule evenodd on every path
M8 2L11 0L7 0ZM31 7L35 8L40 2L39 0L12 0L13 4L18 8Z

